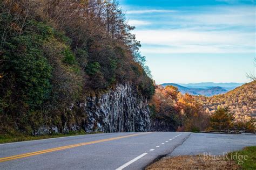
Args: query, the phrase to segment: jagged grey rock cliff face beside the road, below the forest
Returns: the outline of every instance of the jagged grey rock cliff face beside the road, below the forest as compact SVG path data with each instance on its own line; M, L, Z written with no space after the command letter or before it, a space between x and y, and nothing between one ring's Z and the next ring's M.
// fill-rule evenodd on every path
M150 131L150 110L147 100L130 84L118 84L104 94L86 97L79 103L86 119L81 124L63 122L62 127L41 126L34 134L85 130L86 132ZM70 108L73 109L73 106Z

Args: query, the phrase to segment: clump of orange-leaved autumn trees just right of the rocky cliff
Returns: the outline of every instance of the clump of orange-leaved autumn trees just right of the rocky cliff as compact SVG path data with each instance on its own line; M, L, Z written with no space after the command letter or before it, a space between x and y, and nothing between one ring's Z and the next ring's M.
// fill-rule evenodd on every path
M194 96L182 95L176 87L157 86L150 107L153 120L164 119L175 130L198 132L207 126L208 115L203 107Z

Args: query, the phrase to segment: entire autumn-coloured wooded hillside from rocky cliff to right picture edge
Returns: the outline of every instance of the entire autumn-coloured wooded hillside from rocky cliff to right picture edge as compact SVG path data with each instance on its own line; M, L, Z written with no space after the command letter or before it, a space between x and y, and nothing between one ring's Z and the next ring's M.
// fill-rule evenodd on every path
M182 94L174 86L157 86L150 108L155 130L212 130L213 119L225 122L226 128L254 131L256 111L256 81L246 83L226 94L212 97ZM218 122L217 121L217 122ZM159 128L160 127L160 128ZM223 125L224 128L224 125ZM214 130L219 130L214 129Z

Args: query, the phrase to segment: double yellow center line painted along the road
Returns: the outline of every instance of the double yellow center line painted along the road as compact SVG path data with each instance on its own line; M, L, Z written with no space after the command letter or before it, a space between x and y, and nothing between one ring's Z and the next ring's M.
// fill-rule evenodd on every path
M25 158L25 157L31 157L33 155L38 155L38 154L43 154L43 153L49 153L49 152L54 152L54 151L66 150L68 148L73 148L73 147L78 147L78 146L97 144L97 143L101 143L103 141L111 141L111 140L117 140L117 139L122 139L122 138L128 138L128 137L138 136L140 134L147 134L147 133L152 133L152 132L136 133L136 134L130 134L130 135L127 135L127 136L107 138L107 139L89 141L89 142L85 142L85 143L79 143L79 144L75 144L75 145L67 145L67 146L61 146L61 147L54 147L54 148L50 148L48 150L41 150L41 151L36 151L36 152L29 152L29 153L24 153L24 154L18 154L18 155L13 155L11 157L0 158L0 162L5 162L5 161L9 161L9 160L14 160L14 159L20 159L20 158Z

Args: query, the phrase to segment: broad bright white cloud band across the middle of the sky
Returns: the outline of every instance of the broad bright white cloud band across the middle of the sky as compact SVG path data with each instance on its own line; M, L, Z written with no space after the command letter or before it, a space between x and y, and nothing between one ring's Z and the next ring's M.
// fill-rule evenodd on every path
M219 44L238 45L252 44L254 33L239 33L235 31L191 31L191 30L137 30L139 40L145 44L175 45L175 44Z

